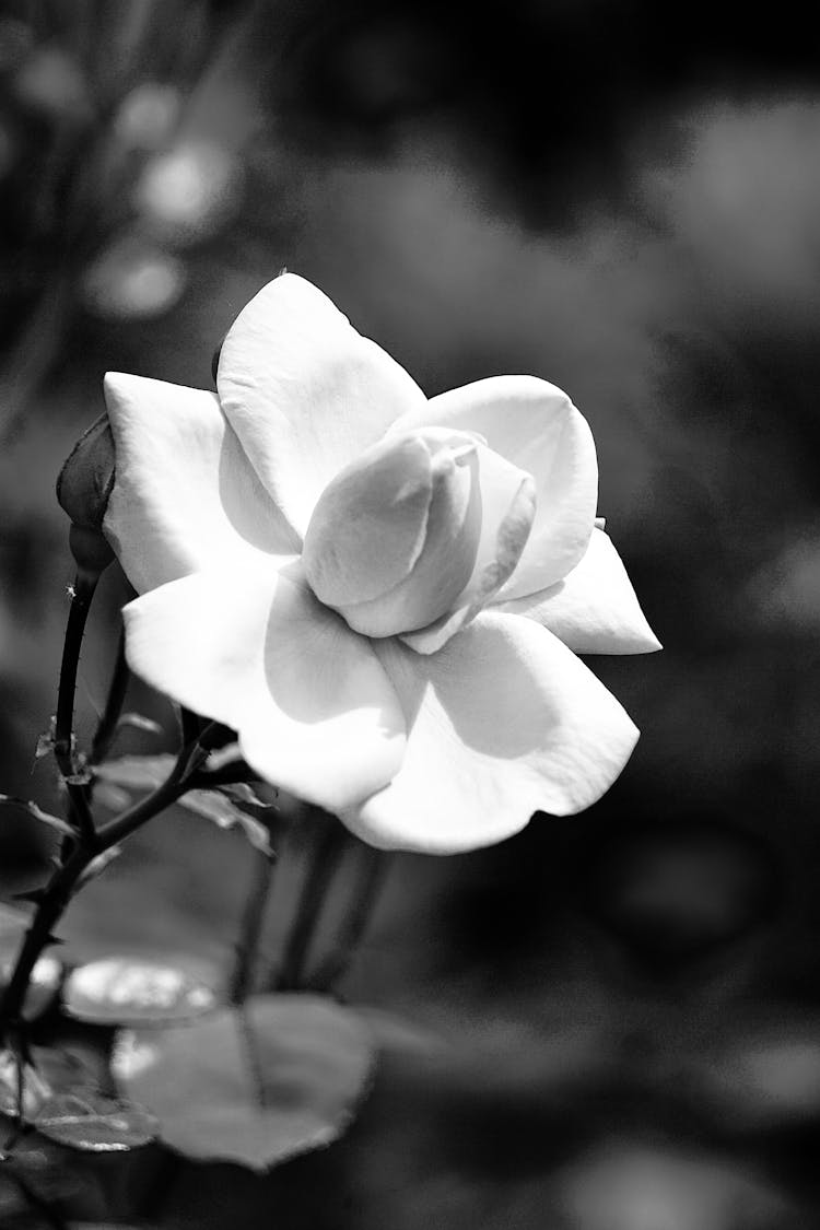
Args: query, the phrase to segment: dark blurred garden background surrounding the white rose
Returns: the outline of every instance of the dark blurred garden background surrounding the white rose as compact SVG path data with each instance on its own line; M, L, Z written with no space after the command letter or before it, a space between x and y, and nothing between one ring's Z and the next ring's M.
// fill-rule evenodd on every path
M344 983L379 1010L386 1057L345 1140L268 1180L189 1166L164 1216L820 1224L808 20L790 0L0 9L0 790L55 806L34 756L73 573L53 488L103 371L208 387L234 316L285 266L429 395L513 371L564 387L665 645L589 663L643 732L595 808L463 857L391 859ZM125 593L109 569L81 734ZM139 685L129 707L172 729ZM118 750L167 745L129 732ZM6 892L45 855L4 818ZM235 834L173 814L66 935L84 954L150 942L224 964L246 863Z

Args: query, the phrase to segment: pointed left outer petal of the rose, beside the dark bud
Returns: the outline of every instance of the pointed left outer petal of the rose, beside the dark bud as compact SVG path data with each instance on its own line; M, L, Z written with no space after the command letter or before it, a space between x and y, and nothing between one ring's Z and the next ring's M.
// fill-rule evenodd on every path
M104 530L135 589L293 551L214 394L109 371L116 477Z

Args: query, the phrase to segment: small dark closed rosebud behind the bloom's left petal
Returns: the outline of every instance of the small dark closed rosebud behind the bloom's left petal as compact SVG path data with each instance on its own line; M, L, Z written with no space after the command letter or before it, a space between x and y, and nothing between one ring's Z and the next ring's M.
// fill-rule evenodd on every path
M114 438L102 413L74 445L57 480L57 498L71 518L71 554L91 573L102 572L114 557L102 533L113 485Z

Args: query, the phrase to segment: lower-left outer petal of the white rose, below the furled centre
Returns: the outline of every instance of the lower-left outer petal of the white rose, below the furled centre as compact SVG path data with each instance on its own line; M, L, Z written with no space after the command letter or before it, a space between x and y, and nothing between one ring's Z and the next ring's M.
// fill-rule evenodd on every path
M195 573L124 615L132 669L232 726L274 785L338 811L398 770L404 717L385 670L293 566Z

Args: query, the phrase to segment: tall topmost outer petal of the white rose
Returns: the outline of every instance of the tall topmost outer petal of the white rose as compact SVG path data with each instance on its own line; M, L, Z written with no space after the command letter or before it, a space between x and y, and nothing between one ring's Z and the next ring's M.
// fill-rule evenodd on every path
M300 539L333 475L425 403L403 368L293 273L240 312L218 385L231 426Z

